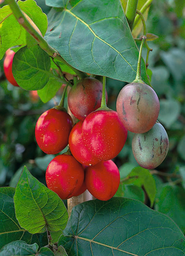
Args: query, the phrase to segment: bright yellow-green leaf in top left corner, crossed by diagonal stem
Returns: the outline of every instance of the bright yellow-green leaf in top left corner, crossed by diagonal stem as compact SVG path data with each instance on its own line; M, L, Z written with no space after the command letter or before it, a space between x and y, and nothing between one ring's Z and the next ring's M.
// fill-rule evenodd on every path
M45 35L48 26L47 16L42 12L36 2L33 0L19 1L18 5L33 20L36 26L38 26L41 33ZM2 59L5 51L10 47L14 45L24 46L27 44L27 40L32 40L30 39L29 33L15 19L9 5L5 5L0 9L0 21L3 19L4 21L0 26L0 59ZM32 41L33 43L35 43L35 40Z

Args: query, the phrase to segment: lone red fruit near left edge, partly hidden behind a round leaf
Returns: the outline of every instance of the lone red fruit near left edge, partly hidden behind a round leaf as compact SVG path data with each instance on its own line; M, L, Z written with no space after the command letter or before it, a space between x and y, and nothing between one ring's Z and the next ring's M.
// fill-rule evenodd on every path
M3 68L4 68L4 73L5 73L5 77L7 78L7 80L10 82L10 84L14 85L14 86L19 86L17 84L17 82L15 81L15 78L12 74L12 62L14 59L14 55L15 52L8 49L6 51L6 56L3 62Z

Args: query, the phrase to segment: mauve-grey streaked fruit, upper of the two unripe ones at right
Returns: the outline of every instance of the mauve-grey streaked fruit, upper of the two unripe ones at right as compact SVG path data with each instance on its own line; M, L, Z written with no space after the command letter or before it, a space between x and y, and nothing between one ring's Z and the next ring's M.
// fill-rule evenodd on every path
M159 99L156 92L147 84L127 84L118 94L116 110L128 131L147 132L158 118Z

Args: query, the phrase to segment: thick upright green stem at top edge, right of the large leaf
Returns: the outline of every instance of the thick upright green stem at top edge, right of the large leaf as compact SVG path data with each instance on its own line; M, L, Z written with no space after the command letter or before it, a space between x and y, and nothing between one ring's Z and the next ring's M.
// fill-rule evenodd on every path
M130 26L131 31L132 31L133 24L134 24L137 3L138 3L138 0L128 0L127 1L127 8L126 8L125 16L127 18L128 25Z

